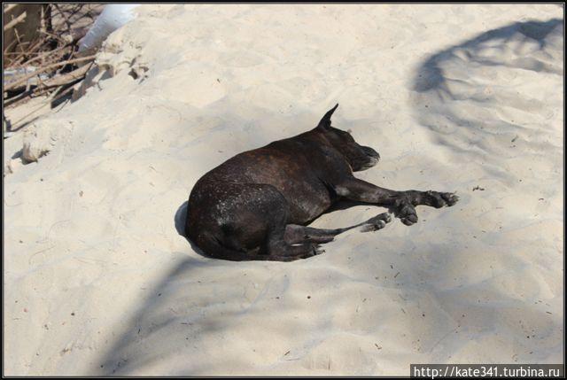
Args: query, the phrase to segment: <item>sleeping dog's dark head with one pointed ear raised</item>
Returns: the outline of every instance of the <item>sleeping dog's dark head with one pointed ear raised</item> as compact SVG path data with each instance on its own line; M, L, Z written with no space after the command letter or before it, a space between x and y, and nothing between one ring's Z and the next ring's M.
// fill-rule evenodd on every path
M317 128L322 131L332 146L346 158L354 172L374 167L380 159L377 151L369 146L356 143L350 133L330 126L330 116L337 107L338 105L335 105L325 113Z

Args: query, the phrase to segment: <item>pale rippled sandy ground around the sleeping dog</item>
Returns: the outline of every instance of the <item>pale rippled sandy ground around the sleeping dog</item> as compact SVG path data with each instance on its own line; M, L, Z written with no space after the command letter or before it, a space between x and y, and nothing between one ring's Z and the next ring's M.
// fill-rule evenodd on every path
M562 7L144 5L97 64L4 140L4 374L563 361ZM337 102L382 156L360 178L461 201L309 260L191 249L176 222L198 178Z

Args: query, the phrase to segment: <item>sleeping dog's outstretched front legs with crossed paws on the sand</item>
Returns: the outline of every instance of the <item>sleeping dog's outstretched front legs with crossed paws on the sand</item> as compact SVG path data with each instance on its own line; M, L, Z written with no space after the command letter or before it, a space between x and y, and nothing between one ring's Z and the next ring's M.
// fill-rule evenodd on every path
M416 206L424 205L439 208L453 206L459 200L453 193L432 190L389 190L355 177L341 181L334 186L334 189L339 196L347 199L392 207L396 216L408 226L417 221Z

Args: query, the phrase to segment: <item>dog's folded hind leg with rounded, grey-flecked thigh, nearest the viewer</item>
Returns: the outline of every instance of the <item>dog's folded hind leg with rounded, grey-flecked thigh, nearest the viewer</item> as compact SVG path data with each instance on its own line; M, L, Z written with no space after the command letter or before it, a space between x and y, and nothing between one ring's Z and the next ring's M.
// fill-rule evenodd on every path
M221 189L221 190L219 190ZM210 202L221 191L224 202L206 217L188 213L188 237L208 256L224 260L306 259L321 252L317 244L287 244L283 239L290 214L287 200L268 184L222 183L199 194L194 204ZM214 202L213 205L217 205ZM191 210L190 210L191 211ZM191 231L193 232L191 234Z

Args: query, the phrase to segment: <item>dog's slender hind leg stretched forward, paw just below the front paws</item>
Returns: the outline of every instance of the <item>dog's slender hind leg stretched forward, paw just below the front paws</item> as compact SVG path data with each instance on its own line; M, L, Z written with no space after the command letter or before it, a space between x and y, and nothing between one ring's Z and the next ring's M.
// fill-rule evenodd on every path
M328 243L332 241L338 234L341 234L349 229L361 228L361 232L377 231L384 229L386 223L392 221L390 213L380 213L379 215L370 218L368 221L363 221L343 229L314 229L312 227L299 226L297 224L288 224L285 227L284 239L287 244L305 244L305 243Z

